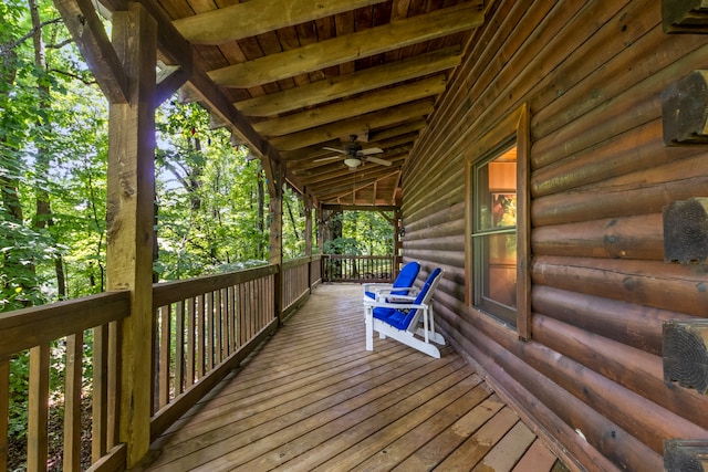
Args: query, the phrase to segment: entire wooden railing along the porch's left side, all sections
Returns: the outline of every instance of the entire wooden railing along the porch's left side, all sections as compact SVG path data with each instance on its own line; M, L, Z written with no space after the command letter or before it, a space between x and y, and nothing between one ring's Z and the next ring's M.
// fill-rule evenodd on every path
M319 256L282 265L283 312L294 310L321 280L320 266ZM275 275L280 270L268 265L153 285L153 439L277 328ZM27 465L28 470L46 469L50 361L55 357L50 347L56 345L66 353L60 361L65 378L64 470L81 470L82 432L92 437L92 469L125 468L126 447L118 443L117 333L129 310L129 292L125 291L0 314L0 472L8 470L10 363L28 349ZM93 356L85 354L87 331L93 335ZM82 377L86 366L93 369L91 381ZM92 431L81 430L82 392L93 397Z

